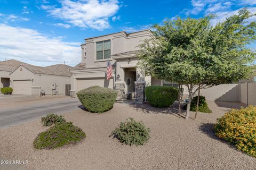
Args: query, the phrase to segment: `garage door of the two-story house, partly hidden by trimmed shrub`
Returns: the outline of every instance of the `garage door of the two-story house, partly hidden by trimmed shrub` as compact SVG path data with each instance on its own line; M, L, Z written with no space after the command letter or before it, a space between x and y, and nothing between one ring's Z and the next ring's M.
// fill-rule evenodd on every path
M100 86L107 87L113 89L113 79L107 81L105 78L97 78L97 79L77 79L77 91L89 88L91 86Z

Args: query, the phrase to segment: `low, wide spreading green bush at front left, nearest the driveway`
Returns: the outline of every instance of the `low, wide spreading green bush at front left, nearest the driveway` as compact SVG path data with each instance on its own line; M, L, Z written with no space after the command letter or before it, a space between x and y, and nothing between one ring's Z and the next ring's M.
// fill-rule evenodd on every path
M33 142L36 149L54 149L75 144L85 138L85 133L71 122L61 122L45 132L39 133Z

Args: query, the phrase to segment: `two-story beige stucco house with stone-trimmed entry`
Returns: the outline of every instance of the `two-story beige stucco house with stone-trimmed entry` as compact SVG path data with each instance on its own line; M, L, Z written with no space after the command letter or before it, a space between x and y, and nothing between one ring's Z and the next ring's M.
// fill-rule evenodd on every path
M71 69L71 94L90 86L119 90L118 100L134 97L138 103L145 99L145 86L161 85L163 81L145 77L136 68L138 45L153 38L150 30L86 38L82 48L82 62ZM113 65L112 78L107 80L107 61Z

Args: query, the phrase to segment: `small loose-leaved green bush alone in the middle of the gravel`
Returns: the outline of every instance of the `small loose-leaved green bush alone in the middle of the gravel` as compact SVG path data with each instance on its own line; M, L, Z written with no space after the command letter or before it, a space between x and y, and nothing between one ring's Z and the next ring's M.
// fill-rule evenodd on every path
M142 122L136 122L133 118L129 119L130 121L121 122L111 135L126 145L143 145L150 138L150 129L146 129Z

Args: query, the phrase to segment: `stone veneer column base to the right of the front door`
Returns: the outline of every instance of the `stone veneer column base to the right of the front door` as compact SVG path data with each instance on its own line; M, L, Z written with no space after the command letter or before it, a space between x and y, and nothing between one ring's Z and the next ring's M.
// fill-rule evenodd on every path
M135 101L138 104L143 104L145 101L145 81L135 82Z

